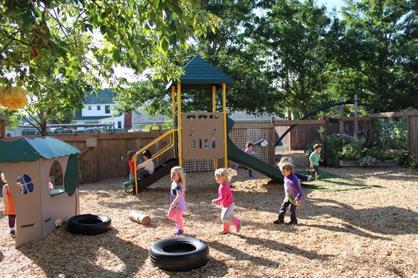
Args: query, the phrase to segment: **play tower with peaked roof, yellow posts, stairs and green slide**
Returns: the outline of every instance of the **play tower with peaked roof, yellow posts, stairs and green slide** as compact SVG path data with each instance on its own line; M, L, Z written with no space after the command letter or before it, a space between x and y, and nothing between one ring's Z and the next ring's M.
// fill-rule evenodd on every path
M166 89L171 89L173 122L176 128L168 130L151 143L145 145L136 152L140 155L144 150L151 148L156 143L168 138L168 145L153 154L151 160L168 151L172 157L157 166L154 174L138 181L135 176L133 194L144 191L157 180L170 173L171 167L183 165L183 160L213 159L213 166L218 168L218 160L223 160L223 167L227 167L228 159L244 167L254 169L257 172L279 182L283 182L282 173L273 165L247 155L242 152L227 133L234 125L234 121L227 117L226 112L226 86L232 83L232 78L210 65L200 56L195 56L183 67L180 82L171 81ZM222 90L222 111L216 111L216 92ZM181 91L200 90L212 93L212 111L182 113ZM136 157L134 158L136 173Z

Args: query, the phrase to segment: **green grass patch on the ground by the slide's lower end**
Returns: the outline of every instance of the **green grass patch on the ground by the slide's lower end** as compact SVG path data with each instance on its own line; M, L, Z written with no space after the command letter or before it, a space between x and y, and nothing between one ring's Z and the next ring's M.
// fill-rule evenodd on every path
M355 179L338 177L335 174L321 172L321 179L312 182L301 182L301 187L315 189L318 191L350 191L380 187L378 185L368 185Z

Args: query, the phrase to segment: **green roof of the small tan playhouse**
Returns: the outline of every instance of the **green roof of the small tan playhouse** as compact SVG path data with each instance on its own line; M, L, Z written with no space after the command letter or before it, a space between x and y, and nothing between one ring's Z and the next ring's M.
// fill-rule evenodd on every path
M66 155L75 155L80 150L53 137L19 138L13 141L0 140L0 163L36 161L41 157L51 159Z

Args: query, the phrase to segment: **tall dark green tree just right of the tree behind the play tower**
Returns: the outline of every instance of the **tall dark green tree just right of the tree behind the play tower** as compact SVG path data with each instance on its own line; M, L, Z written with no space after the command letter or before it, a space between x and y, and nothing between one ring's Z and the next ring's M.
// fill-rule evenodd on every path
M270 5L257 35L269 50L269 72L284 95L282 106L303 116L330 101L323 90L335 50L329 43L333 37L331 18L324 6L316 6L312 0L272 1Z

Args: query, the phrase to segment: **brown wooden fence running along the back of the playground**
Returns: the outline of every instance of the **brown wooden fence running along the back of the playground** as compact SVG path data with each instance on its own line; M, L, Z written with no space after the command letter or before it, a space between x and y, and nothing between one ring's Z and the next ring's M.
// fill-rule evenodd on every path
M250 125L241 125L235 123L230 131L230 138L238 148L245 148L245 142L248 140L266 139L268 145L266 148L257 147L257 158L271 165L275 163L275 134L282 135L289 126L296 124L285 137L282 142L289 146L289 150L304 150L316 139L321 140L321 134L318 130L323 128L323 136L333 133L343 133L354 135L355 121L358 121L359 133L364 133L373 142L373 119L402 117L408 118L408 140L409 153L418 160L418 111L408 112L391 112L370 114L370 117L342 117L338 121L333 119L323 120L301 120L301 121L276 121L272 119L272 123L257 123ZM151 143L152 140L158 138L166 130L153 130L151 132L134 132L134 133L73 133L73 134L54 134L52 137L63 140L81 153L78 155L80 167L80 184L87 182L98 182L102 179L121 178L129 176L129 165L127 162L128 150L140 150L144 145ZM28 136L29 138L33 136ZM14 138L4 138L3 140L16 140ZM162 140L157 145L150 148L152 154L157 150L164 148L169 144L169 140ZM167 152L161 157L157 157L155 164L161 163L174 157L173 152ZM139 157L141 159L141 157ZM201 160L204 161L204 160ZM188 165L191 164L191 165ZM210 163L203 163L203 167L194 169L193 161L183 161L183 167L187 167L188 172L194 170L213 170L213 160ZM219 165L222 165L220 163ZM192 169L193 168L193 169ZM185 168L186 169L186 168Z

